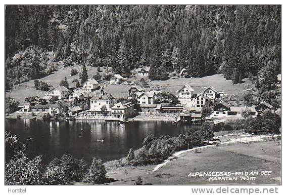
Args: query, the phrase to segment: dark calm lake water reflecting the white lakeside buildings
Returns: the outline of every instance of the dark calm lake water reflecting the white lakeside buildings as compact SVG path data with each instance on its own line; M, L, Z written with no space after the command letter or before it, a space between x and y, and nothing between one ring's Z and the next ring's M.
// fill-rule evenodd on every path
M103 121L46 122L28 119L7 119L5 122L5 130L18 136L20 143L26 145L29 156L43 155L44 162L60 158L65 152L77 159L84 157L87 162L93 157L104 162L116 160L126 157L131 147L141 147L148 133L156 137L178 136L188 129L200 128L200 125L172 125L167 121L135 121L123 125ZM97 142L99 139L104 142Z

